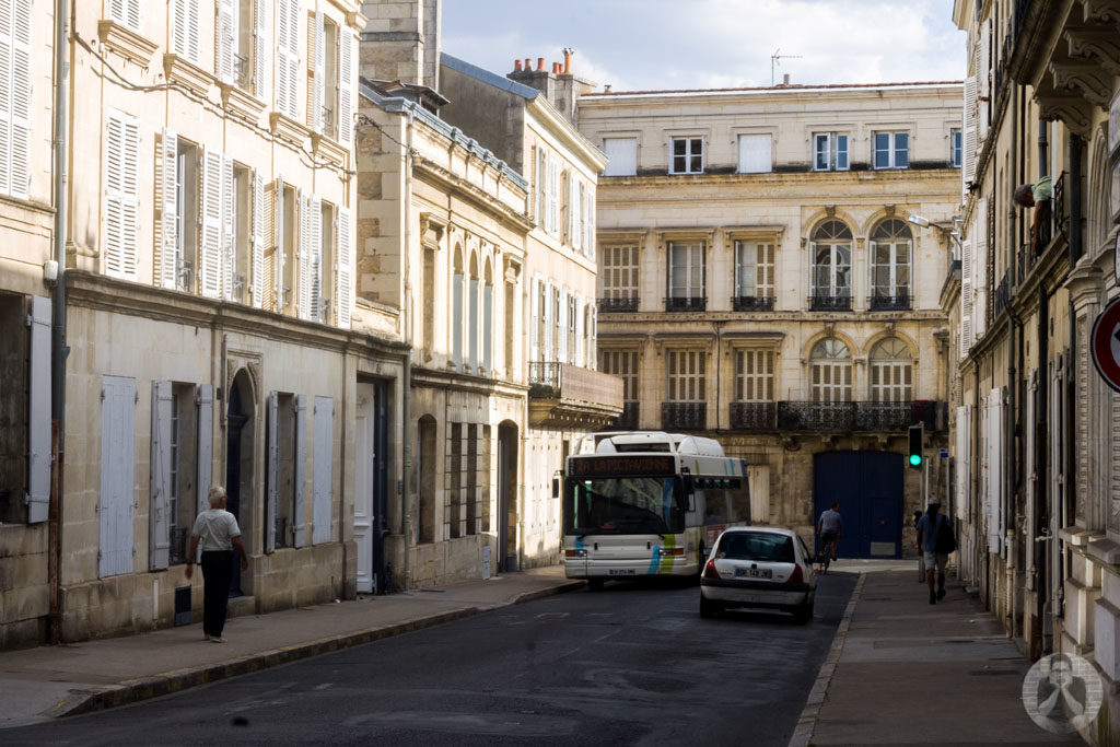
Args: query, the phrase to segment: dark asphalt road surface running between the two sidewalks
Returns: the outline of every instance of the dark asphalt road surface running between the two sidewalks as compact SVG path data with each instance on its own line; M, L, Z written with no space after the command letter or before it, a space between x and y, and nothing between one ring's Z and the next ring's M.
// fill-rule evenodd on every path
M842 569L836 569L842 570ZM701 619L699 587L608 583L88 716L15 745L785 745L856 577L816 615Z

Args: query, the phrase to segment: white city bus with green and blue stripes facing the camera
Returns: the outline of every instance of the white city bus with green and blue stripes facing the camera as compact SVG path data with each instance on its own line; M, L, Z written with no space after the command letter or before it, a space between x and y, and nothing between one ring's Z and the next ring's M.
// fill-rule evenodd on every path
M568 457L562 498L568 578L699 577L725 527L750 523L747 463L719 441L661 431L591 433Z

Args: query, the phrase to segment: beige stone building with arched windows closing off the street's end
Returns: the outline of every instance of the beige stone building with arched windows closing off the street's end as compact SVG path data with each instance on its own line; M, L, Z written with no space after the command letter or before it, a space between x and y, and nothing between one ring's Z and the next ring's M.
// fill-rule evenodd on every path
M840 501L848 557L913 550L923 491L948 487L960 97L930 83L578 100L610 159L598 346L625 381L619 424L745 457L758 523L808 535ZM913 423L924 473L904 467Z

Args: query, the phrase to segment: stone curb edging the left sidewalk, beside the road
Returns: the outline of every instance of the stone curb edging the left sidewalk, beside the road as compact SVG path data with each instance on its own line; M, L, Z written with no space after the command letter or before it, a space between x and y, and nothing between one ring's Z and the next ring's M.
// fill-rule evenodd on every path
M72 697L66 698L50 709L44 711L43 716L49 716L52 718L78 716L108 708L127 706L129 703L149 700L151 698L161 698L162 695L181 692L184 690L197 688L211 682L228 680L231 678L241 676L242 674L260 672L265 669L280 666L281 664L288 664L301 659L319 656L321 654L328 654L343 648L361 646L382 638L401 635L403 633L411 633L413 631L435 627L437 625L451 623L466 617L474 617L475 615L488 611L489 609L517 605L556 594L571 591L572 589L581 586L585 586L584 581L568 581L548 589L526 591L516 596L512 601L507 601L503 605L495 605L493 607L464 607L461 609L454 609L451 611L440 613L430 617L420 617L405 623L396 623L384 627L370 628L357 633L344 633L342 635L319 638L318 641L308 641L305 643L292 644L290 646L273 648L271 651L262 651L255 654L231 659L225 662L218 662L216 664L189 666L136 680L124 680L123 682L118 682L116 684L99 688L96 690L83 690L75 692Z

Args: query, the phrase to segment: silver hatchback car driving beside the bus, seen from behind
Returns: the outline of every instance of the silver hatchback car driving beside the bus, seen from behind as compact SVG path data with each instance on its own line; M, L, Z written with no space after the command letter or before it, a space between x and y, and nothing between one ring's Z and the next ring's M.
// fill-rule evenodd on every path
M792 530L729 526L711 549L700 575L700 615L728 607L760 607L813 617L816 572L812 554Z

